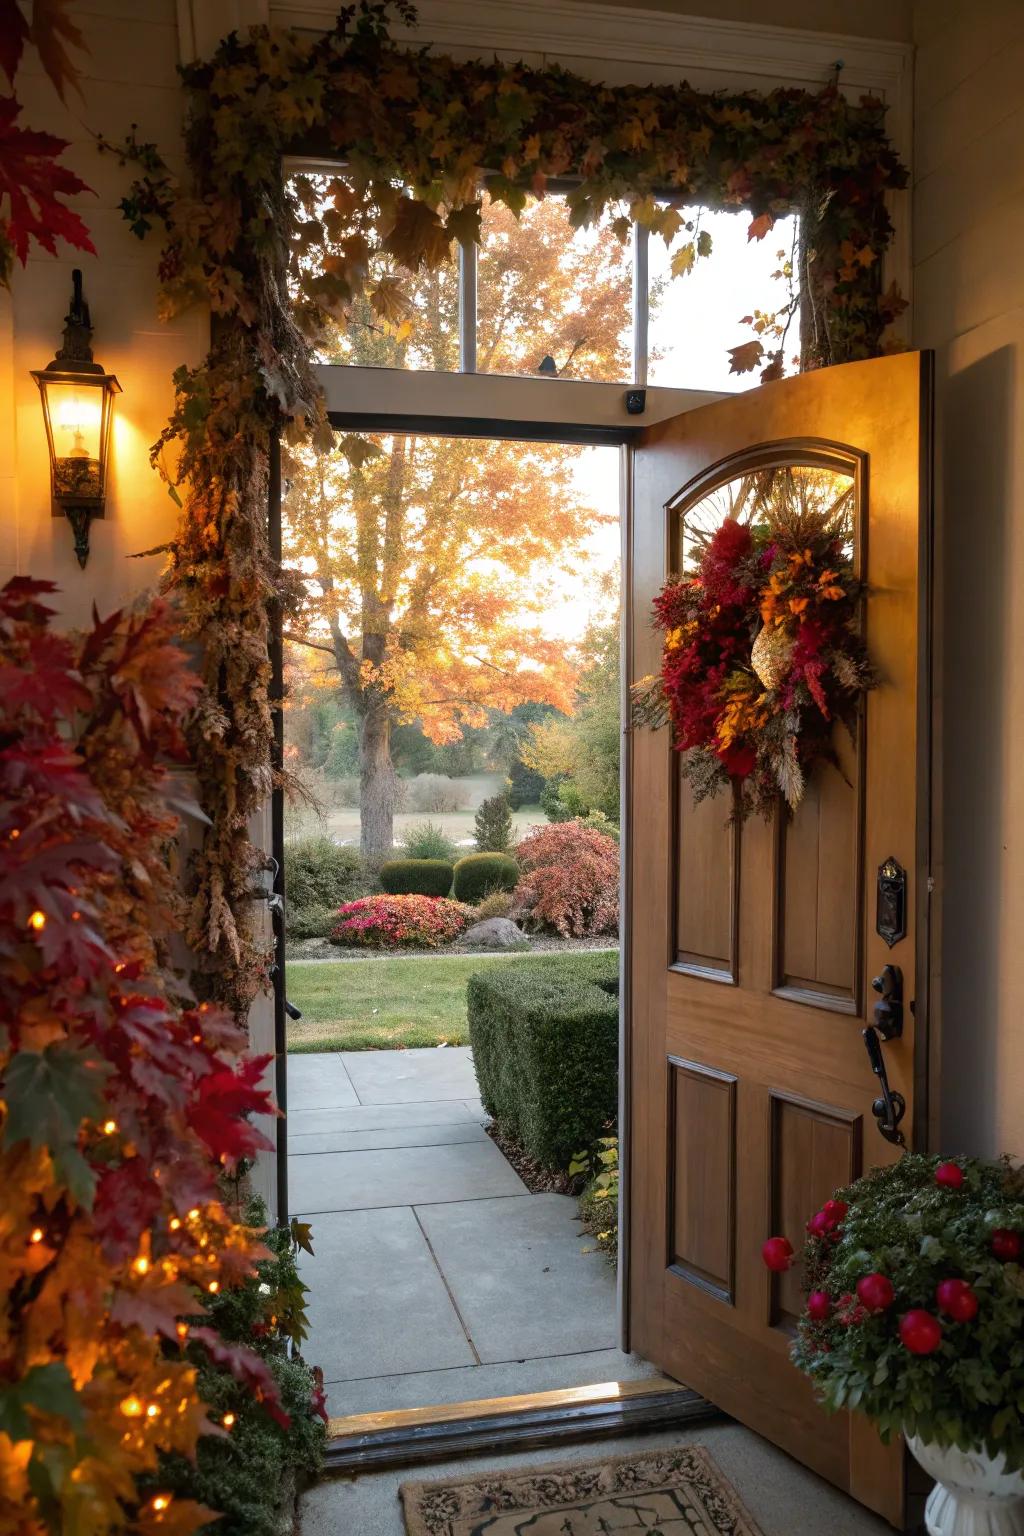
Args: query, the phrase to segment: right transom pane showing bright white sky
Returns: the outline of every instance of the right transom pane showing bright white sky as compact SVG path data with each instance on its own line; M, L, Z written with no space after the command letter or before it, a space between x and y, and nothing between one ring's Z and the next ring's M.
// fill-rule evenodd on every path
M711 235L711 255L700 257L682 276L671 276L672 257L694 240L683 229L671 246L651 235L648 332L648 382L674 389L745 390L760 381L751 373L729 372L729 347L751 341L743 315L772 313L789 298L785 278L774 278L794 253L797 217L780 218L763 240L748 240L749 212L683 209L683 218ZM768 343L772 350L777 343ZM800 323L794 318L786 338L786 361L800 355Z

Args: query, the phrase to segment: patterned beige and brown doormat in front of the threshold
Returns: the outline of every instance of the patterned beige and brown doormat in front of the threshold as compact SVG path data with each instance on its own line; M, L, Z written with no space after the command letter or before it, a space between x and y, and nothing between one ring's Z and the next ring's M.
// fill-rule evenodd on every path
M702 1445L405 1482L408 1536L761 1536Z

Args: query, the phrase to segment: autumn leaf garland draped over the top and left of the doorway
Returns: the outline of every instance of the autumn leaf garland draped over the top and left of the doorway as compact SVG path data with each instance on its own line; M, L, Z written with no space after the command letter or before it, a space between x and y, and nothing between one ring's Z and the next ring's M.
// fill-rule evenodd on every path
M804 367L877 355L903 307L878 281L892 237L886 194L906 186L880 103L852 104L835 84L705 94L457 61L395 46L391 17L408 25L415 11L362 0L319 37L256 28L186 69L187 186L155 146L132 135L118 149L141 170L124 217L138 235L166 235L164 313L197 301L213 313L206 361L175 375L154 462L167 473L177 450L173 481L187 487L167 585L207 687L193 751L210 826L187 937L209 995L238 1014L266 978L250 823L272 783L269 617L289 601L267 542L269 455L279 433L330 442L312 370L327 327L364 295L384 323L404 315L401 272L438 267L459 241L479 240L481 181L519 212L554 177L576 183L576 224L611 214L623 240L631 221L666 241L685 233L676 204L746 209L751 238L801 214L794 290L777 315L748 316L754 335L732 349L735 372L783 372L797 306ZM344 161L325 197L309 178L282 186L281 157L310 146ZM379 253L399 269L384 283L370 275ZM703 233L677 272L708 257Z

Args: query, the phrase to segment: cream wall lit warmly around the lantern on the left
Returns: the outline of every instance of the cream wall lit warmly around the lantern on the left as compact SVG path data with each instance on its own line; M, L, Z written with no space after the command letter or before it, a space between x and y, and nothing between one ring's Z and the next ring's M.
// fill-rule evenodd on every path
M178 28L173 0L81 0L74 8L91 55L83 97L61 106L29 49L17 80L21 120L71 140L64 163L95 197L74 200L97 255L60 246L57 258L35 250L15 269L12 293L0 304L0 582L14 571L60 582L68 622L84 621L94 599L101 611L154 582L161 561L130 561L163 544L177 508L149 467L149 445L173 402L170 375L204 352L207 319L200 310L169 324L157 315L157 238L140 243L118 201L130 170L100 154L94 134L118 141L135 121L172 161L181 161L183 94L177 77ZM31 369L45 367L61 336L71 298L71 270L80 266L95 329L94 350L117 373L112 484L106 518L92 524L84 571L74 558L68 522L51 518L49 461L38 390Z

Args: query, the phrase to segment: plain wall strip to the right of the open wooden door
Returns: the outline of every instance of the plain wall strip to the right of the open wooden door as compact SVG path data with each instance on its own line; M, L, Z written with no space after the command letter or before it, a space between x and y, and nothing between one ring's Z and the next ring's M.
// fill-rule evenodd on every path
M913 335L935 347L941 1124L1024 1157L1024 5L918 0Z

